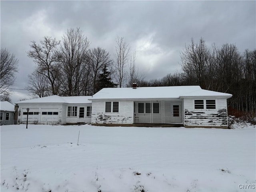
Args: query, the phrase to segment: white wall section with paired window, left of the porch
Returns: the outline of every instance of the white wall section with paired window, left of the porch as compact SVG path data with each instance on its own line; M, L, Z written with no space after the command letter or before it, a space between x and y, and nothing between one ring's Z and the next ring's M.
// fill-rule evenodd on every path
M105 112L106 102L119 102L118 112ZM132 100L92 100L92 124L133 124Z

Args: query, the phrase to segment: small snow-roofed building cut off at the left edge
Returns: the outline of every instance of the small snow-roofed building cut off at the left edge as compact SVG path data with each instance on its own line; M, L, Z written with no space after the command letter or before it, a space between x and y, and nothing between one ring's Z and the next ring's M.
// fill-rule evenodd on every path
M14 117L14 105L8 101L1 101L0 115L1 125L12 125Z

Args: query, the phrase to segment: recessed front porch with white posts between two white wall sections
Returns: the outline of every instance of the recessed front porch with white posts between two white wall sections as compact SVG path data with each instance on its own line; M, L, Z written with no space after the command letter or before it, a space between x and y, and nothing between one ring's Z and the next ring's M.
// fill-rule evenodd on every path
M134 124L183 124L182 100L134 101Z

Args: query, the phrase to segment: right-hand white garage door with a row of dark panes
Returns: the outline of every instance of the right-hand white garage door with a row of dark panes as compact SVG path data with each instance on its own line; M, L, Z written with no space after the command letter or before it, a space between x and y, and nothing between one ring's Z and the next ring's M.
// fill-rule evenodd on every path
M41 123L42 124L57 124L59 120L58 108L42 108Z

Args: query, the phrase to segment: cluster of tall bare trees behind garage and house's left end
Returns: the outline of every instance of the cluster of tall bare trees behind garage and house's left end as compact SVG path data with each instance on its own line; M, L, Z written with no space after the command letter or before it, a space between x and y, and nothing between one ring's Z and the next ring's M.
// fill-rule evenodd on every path
M114 60L105 49L90 48L80 28L68 29L61 41L48 36L40 44L32 41L30 48L28 57L37 68L28 76L27 88L35 97L92 95L102 84L122 87L135 76L127 70L130 47L121 37L116 38Z

